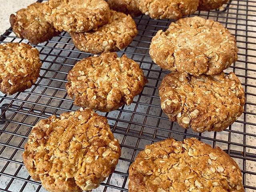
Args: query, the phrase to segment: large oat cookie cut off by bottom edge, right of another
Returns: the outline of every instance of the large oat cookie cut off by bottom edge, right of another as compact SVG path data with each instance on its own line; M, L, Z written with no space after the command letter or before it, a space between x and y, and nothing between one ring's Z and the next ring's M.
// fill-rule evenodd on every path
M129 192L244 192L236 162L196 138L146 146L130 166L129 179Z

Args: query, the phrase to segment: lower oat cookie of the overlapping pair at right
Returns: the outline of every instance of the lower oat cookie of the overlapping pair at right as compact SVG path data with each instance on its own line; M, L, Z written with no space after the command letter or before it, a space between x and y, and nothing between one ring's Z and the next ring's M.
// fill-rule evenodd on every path
M222 131L244 112L244 90L234 73L199 77L168 74L159 87L162 110L183 128Z

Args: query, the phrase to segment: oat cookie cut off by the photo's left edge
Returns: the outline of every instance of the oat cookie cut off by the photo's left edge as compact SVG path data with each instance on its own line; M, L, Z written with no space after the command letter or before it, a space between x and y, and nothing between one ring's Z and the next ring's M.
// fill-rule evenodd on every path
M0 45L0 90L12 95L31 88L42 62L36 48L25 43Z

